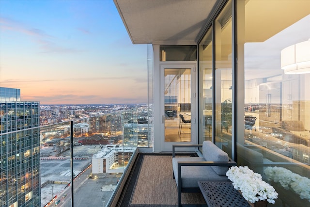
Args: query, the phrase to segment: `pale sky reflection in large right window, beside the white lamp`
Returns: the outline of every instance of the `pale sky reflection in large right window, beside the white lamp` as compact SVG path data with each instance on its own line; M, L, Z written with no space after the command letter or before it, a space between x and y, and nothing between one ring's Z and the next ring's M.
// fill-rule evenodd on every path
M280 53L283 48L309 40L310 15L297 21L264 42L245 43L246 80L281 75Z

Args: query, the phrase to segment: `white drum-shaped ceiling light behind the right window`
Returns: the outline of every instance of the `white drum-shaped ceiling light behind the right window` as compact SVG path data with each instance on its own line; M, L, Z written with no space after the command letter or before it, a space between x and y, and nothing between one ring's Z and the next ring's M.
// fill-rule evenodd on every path
M310 73L310 40L282 49L281 68L285 74Z

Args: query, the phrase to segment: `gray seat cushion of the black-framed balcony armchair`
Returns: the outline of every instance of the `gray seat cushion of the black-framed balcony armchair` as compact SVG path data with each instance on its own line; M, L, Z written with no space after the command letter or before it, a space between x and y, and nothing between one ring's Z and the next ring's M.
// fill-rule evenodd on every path
M203 158L173 158L172 167L178 185L178 161L205 161ZM182 166L182 188L198 188L198 181L229 181L227 176L220 176L211 166Z

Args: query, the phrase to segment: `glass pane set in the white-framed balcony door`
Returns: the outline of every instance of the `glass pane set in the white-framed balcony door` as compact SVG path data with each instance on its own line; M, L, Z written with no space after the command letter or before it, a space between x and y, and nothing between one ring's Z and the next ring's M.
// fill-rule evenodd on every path
M165 69L165 142L191 141L191 69Z

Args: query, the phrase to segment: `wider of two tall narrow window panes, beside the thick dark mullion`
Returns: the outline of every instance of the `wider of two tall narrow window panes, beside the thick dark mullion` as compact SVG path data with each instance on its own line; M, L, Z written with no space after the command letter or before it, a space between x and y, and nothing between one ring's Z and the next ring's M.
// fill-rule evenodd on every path
M232 2L215 19L215 143L232 143ZM226 150L232 157L232 150Z

